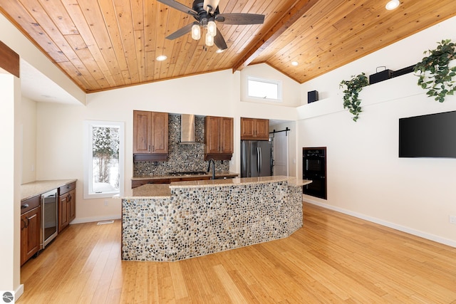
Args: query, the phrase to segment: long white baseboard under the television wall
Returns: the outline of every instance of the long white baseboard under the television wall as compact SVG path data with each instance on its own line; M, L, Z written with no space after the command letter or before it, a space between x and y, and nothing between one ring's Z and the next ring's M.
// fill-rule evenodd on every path
M405 232L407 234L413 234L414 236L420 236L423 239L428 239L430 241L435 241L437 243L442 243L444 245L452 246L452 247L456 248L456 241L445 239L445 238L442 238L440 236L435 236L433 234L427 234L427 233L425 233L423 231L419 231L419 230L411 229L409 227L405 227L405 226L401 226L401 225L398 225L398 224L390 223L389 221L383 221L382 219L376 219L375 217L366 216L365 214L358 214L357 212L353 212L353 211L350 211L350 210L342 209L342 208L339 208L339 207L336 207L336 206L331 206L331 205L328 205L328 204L322 204L319 201L313 201L313 200L311 200L311 199L309 199L307 197L303 198L303 201L306 201L307 203L314 204L314 205L317 205L317 206L321 206L321 207L326 208L326 209L331 209L333 211L338 211L338 212L341 212L343 214L348 214L350 216L355 216L358 219L364 219L366 221L371 221L371 222L373 222L375 224L386 226L386 227L389 227L389 228L392 228L392 229L395 229L395 230L398 230L398 231L403 231L403 232Z

